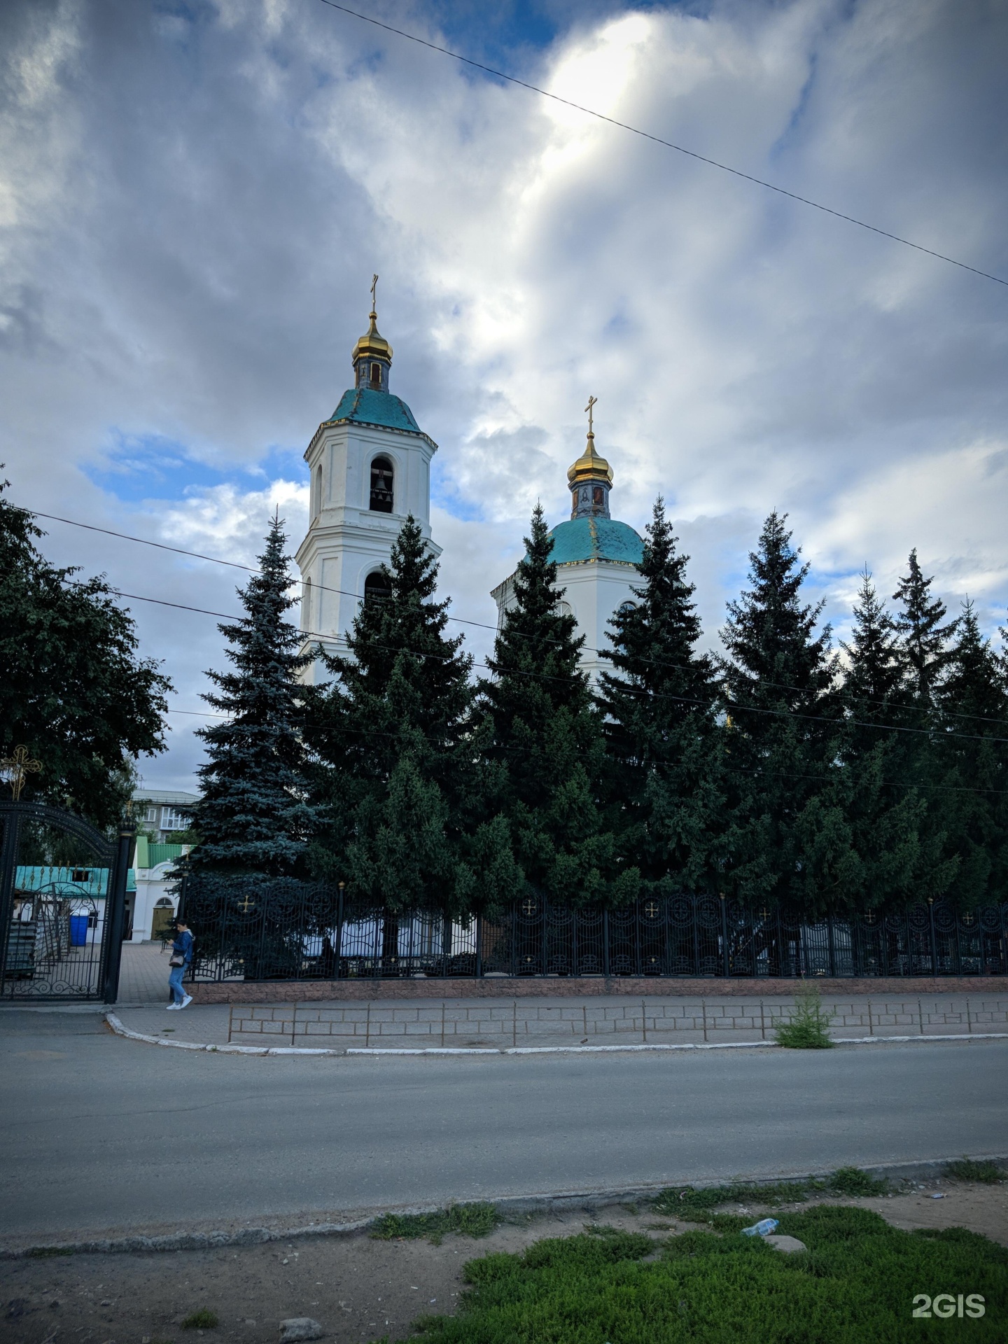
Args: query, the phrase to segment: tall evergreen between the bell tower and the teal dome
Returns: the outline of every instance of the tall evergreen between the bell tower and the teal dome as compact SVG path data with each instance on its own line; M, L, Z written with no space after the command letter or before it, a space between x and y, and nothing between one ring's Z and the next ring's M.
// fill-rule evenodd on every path
M601 715L578 665L583 637L558 609L551 552L536 505L513 605L488 660L492 677L480 685L480 745L528 888L574 903L620 902L636 892L638 872L620 864L605 829Z

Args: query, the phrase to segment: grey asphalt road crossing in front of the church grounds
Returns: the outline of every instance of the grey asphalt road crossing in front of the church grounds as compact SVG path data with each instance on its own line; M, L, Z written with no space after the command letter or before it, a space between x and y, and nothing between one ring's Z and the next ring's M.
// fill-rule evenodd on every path
M0 1011L0 1235L1008 1152L1008 1042L255 1058Z

